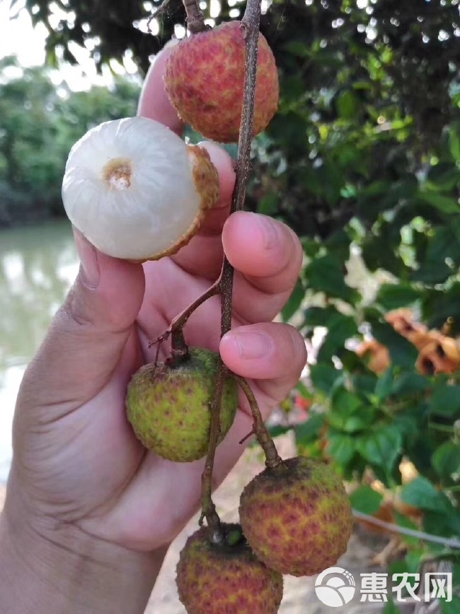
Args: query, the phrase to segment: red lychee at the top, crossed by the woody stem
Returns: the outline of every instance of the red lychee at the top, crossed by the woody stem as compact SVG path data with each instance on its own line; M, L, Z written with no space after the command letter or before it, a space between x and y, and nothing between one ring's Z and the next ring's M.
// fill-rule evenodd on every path
M180 118L208 139L238 141L243 103L245 41L240 21L192 34L166 60L166 93ZM253 135L278 108L278 73L272 50L259 35Z

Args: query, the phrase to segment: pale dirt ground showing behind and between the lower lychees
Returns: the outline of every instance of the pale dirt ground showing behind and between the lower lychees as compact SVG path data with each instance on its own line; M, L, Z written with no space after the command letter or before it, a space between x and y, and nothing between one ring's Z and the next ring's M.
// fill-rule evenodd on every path
M288 436L277 440L282 457L294 454L294 446ZM257 448L246 450L234 470L226 478L214 495L217 510L223 521L234 522L238 518L238 499L244 485L258 472L263 470L263 461ZM4 487L0 486L0 509L4 500ZM185 614L185 609L178 600L175 576L179 552L188 535L197 528L197 516L192 518L178 538L171 545L156 581L154 591L146 607L145 614ZM369 567L369 561L379 552L388 540L374 535L360 527L355 529L347 552L338 561L338 566L347 569L355 577L359 586L360 574L363 572L385 572L379 567ZM376 614L381 613L382 603L360 603L360 593L346 606L330 608L324 606L316 597L314 590L315 576L311 578L294 578L284 576L284 597L280 614ZM413 609L405 609L409 614Z

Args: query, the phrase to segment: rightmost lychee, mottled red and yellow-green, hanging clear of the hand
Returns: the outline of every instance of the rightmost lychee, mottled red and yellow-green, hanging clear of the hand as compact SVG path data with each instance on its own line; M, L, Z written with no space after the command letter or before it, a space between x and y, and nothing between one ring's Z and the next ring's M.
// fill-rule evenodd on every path
M249 482L239 513L255 555L292 576L311 576L333 566L347 549L353 525L338 475L326 463L301 456Z

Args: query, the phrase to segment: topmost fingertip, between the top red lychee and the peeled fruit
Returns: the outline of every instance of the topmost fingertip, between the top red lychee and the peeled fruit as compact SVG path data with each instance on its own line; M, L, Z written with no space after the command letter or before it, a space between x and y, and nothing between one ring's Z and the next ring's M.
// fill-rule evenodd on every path
M137 115L161 122L181 135L184 124L169 101L163 84L166 59L171 53L171 47L172 45L164 47L150 64L142 86Z

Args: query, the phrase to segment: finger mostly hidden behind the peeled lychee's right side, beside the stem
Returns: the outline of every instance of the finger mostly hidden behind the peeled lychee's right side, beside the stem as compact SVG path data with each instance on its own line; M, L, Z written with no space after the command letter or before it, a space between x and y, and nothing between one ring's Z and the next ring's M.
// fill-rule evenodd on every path
M220 234L229 216L231 195L235 185L234 161L216 143L202 142L219 173L219 203L207 213L205 222L188 245L173 256L173 260L192 275L215 279L222 268L222 240Z

